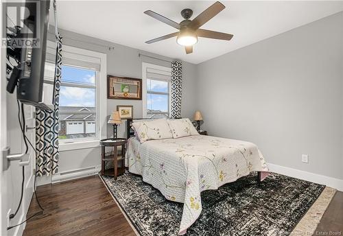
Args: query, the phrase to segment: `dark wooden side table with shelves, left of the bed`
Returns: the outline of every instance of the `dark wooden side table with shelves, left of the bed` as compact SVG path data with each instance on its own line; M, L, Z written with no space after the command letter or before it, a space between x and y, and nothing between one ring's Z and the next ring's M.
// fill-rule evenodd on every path
M102 139L100 145L102 145L102 176L113 176L117 179L117 176L125 172L125 145L128 142L127 139ZM121 154L118 154L118 147L121 146ZM106 147L113 147L110 154L106 154ZM105 169L106 161L113 162L113 168ZM118 169L118 163L121 167Z

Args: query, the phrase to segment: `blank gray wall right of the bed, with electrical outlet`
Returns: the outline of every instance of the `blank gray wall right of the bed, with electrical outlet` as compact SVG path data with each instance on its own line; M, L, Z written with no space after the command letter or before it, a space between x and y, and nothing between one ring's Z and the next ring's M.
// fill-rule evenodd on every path
M268 163L343 179L342 45L340 12L198 64L203 128L256 143Z

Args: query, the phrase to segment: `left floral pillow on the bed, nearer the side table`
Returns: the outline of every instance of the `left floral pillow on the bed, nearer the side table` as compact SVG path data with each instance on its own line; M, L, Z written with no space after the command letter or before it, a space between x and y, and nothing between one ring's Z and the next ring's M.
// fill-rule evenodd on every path
M132 127L141 143L150 139L171 139L173 137L166 119L133 122Z

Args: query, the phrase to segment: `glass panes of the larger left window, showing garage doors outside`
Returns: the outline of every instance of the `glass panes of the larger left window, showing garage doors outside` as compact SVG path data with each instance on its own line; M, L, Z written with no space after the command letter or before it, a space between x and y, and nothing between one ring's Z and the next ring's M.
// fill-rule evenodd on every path
M97 73L95 69L62 65L60 139L97 137Z

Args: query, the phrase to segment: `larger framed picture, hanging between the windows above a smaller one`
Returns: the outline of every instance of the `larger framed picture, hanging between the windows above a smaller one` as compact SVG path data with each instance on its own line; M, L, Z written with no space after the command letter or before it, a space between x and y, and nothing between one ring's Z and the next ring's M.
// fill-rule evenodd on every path
M142 99L142 80L135 78L107 76L107 98Z

